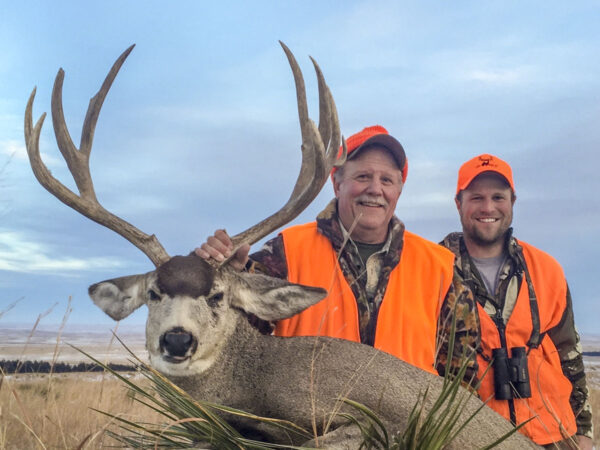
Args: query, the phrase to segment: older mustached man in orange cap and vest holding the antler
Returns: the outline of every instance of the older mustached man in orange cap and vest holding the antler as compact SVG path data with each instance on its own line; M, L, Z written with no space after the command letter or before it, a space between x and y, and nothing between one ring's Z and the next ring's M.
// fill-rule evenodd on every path
M275 324L275 334L362 342L443 373L456 317L450 364L456 370L466 351L467 378L474 376L476 307L453 276L454 255L406 231L394 215L408 168L402 145L385 128L372 126L348 138L347 148L346 163L332 173L335 199L317 220L283 230L251 256L249 270L329 292ZM196 252L223 260L231 248L221 230ZM232 264L242 268L248 251L238 251Z

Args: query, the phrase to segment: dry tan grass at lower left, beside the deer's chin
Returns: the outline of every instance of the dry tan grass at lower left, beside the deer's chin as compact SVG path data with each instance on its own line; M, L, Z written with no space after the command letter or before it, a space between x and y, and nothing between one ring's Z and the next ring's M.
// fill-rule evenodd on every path
M103 433L112 425L111 419L91 408L137 422L161 421L156 413L130 398L121 381L108 374L7 376L0 385L0 449L115 445Z

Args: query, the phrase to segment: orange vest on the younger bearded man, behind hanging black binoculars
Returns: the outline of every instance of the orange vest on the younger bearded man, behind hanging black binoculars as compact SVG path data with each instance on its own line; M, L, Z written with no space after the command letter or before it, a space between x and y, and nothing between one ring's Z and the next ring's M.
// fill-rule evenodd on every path
M540 333L544 333L556 326L563 316L567 305L567 283L562 268L554 258L529 244L521 241L519 244L523 247L523 256L538 300ZM481 320L481 348L483 354L491 358L492 349L500 347L500 336L488 313L479 303L477 305ZM523 277L515 308L506 324L507 348L525 347L532 329L529 290ZM517 424L537 417L519 431L541 445L564 439L559 423L567 436L574 435L577 426L569 403L572 385L563 374L554 343L544 335L539 347L528 347L528 351L531 398L515 399L515 414ZM494 399L493 368L484 377L489 363L481 355L478 361L479 379L482 380L479 389L481 399L486 401L491 398L488 405L510 420L508 401Z

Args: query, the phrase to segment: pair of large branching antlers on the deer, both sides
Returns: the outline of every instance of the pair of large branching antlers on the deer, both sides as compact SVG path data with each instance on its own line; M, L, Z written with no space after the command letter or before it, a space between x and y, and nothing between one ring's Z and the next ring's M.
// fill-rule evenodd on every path
M341 166L346 160L346 143L341 138L335 103L327 84L325 84L321 69L315 60L311 58L315 66L319 84L319 126L317 128L315 123L308 117L306 91L300 67L292 52L285 44L282 42L280 44L288 57L296 84L298 115L302 131L302 167L287 203L275 214L234 236L232 241L235 248L239 248L243 243L254 244L273 230L297 217L321 191L331 169ZM32 109L36 92L35 88L29 97L25 110L25 143L33 173L46 190L67 206L123 236L144 252L154 265L158 267L169 260L169 255L163 246L154 235L149 236L141 232L130 223L106 210L98 202L89 168L89 157L100 109L119 69L134 46L132 45L119 56L106 76L104 83L102 83L100 90L90 100L90 105L83 122L79 149L73 144L65 123L62 108L62 85L65 73L60 69L56 75L52 90L52 123L54 125L54 134L56 135L58 148L75 180L79 195L54 178L42 161L39 141L46 113L42 114L35 126L33 126ZM340 140L343 141L343 151L338 156ZM213 263L215 265L222 264Z

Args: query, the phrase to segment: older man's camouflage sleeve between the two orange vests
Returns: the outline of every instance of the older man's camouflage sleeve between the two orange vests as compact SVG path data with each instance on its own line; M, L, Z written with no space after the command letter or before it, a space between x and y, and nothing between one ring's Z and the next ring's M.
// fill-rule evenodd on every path
M454 334L452 359L448 362L450 337ZM479 315L471 289L465 284L456 268L450 289L442 304L438 322L438 350L436 369L440 375L450 367L458 373L463 364L467 365L464 382L477 384L477 348L479 347Z

